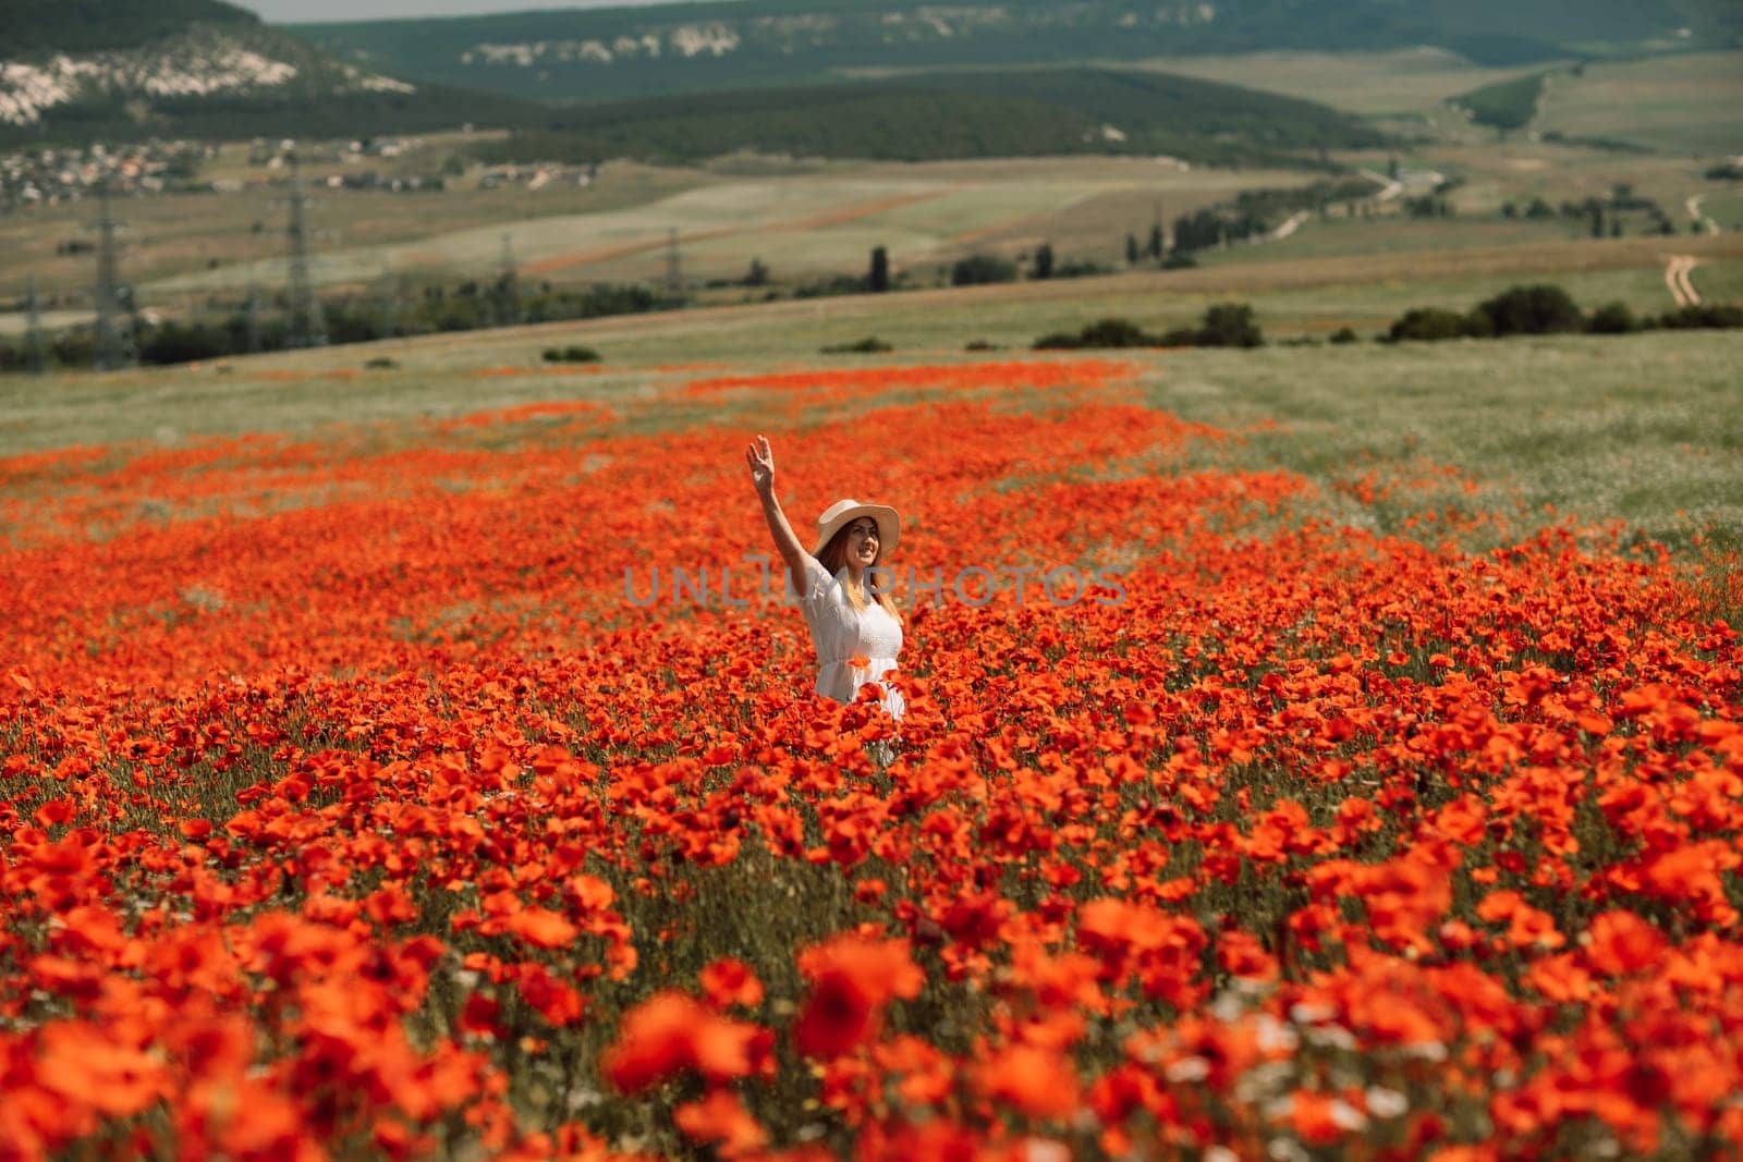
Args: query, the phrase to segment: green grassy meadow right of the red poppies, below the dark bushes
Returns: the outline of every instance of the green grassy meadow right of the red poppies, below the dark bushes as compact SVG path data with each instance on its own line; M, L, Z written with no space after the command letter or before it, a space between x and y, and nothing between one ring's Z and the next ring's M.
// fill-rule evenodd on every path
M1251 465L1326 481L1415 460L1483 509L1624 521L1672 545L1743 523L1743 341L1729 334L1197 352L1147 399L1246 430ZM1546 514L1548 516L1548 514Z

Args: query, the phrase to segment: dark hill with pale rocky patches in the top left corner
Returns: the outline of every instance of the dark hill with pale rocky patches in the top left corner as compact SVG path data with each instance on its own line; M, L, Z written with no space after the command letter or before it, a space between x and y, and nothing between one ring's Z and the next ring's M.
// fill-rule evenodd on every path
M338 59L218 0L0 0L0 143L525 124L497 94Z

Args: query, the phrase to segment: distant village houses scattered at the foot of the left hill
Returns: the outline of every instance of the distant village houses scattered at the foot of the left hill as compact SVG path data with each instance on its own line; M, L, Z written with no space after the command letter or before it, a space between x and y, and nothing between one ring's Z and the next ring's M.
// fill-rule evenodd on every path
M94 197L108 183L115 197L153 193L235 193L249 186L268 186L289 179L288 159L296 143L256 139L249 143L249 169L260 176L209 178L202 171L218 159L220 146L207 141L150 141L139 145L91 145L87 148L44 146L0 153L0 214L61 206ZM429 193L450 188L465 172L451 162L431 172L406 171L404 157L422 143L417 138L375 138L340 141L305 148L305 164L343 166L340 172L310 178L312 186L329 190L378 190L383 193ZM450 155L451 157L451 155ZM392 169L366 167L370 162L397 162ZM598 166L558 166L532 162L492 166L478 176L479 190L526 188L565 183L589 186Z

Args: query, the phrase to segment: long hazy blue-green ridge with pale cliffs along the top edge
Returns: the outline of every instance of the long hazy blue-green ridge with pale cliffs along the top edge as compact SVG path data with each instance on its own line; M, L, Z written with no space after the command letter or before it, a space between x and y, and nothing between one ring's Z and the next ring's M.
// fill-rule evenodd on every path
M809 85L851 68L966 68L1274 49L1438 45L1485 64L1743 37L1736 0L715 0L296 24L371 70L546 101Z

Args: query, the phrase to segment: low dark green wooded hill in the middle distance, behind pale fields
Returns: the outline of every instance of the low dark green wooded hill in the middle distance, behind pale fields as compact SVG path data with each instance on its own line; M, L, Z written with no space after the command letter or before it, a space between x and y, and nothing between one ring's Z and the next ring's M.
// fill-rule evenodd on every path
M1316 160L1384 145L1311 101L1112 70L1004 70L577 106L483 146L490 160L688 162L734 150L934 160L1170 153L1213 164Z

